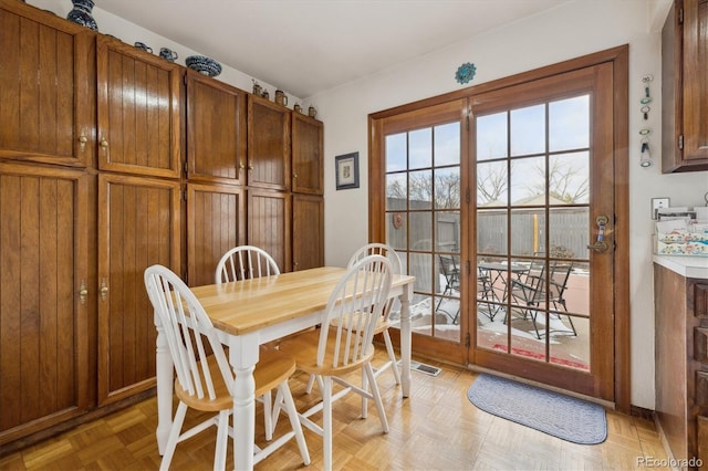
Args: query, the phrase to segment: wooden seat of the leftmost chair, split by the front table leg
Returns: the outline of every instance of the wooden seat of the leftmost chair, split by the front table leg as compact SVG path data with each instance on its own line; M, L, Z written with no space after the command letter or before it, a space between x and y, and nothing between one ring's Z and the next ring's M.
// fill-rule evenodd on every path
M179 381L175 381L175 394L187 406L202 411L217 412L219 410L230 409L233 407L233 397L229 394L229 389L223 383L223 376L219 371L217 359L214 355L208 357L209 370L214 381L216 398L209 400L208 397L197 398L190 396L181 388ZM272 348L261 348L260 359L253 370L256 379L256 397L274 389L295 373L295 359L283 352Z

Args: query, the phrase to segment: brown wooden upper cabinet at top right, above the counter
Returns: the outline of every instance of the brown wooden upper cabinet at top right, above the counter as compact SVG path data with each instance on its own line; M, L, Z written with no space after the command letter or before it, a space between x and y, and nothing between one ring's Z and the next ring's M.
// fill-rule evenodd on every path
M708 170L708 0L675 0L662 31L662 170Z

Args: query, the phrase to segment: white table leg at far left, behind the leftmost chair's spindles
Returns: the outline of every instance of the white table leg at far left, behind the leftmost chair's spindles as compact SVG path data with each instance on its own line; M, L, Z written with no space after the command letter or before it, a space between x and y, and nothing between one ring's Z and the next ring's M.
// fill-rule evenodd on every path
M157 376L157 449L159 454L165 453L169 430L173 427L173 387L174 387L174 364L169 354L165 328L159 317L155 315L155 327L157 328L157 342L155 352L156 376Z

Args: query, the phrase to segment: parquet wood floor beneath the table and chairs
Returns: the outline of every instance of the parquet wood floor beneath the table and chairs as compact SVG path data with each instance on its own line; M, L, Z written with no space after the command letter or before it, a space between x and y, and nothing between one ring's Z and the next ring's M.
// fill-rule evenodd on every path
M377 360L384 359L377 353ZM425 363L434 364L425 360ZM393 375L379 377L391 432L384 435L369 406L360 418L360 397L335 404L336 470L629 470L642 459L667 460L654 423L607 411L608 438L595 446L570 443L477 409L467 399L476 373L448 365L438 377L413 373L412 395L400 398ZM291 388L299 407L314 400L304 394L308 377L296 374ZM314 396L314 397L313 397ZM260 412L260 408L257 409ZM257 419L257 440L262 420ZM200 417L188 412L188 421ZM155 398L85 423L61 436L0 459L1 470L156 470ZM281 417L278 432L288 428ZM209 470L216 428L177 446L174 470ZM305 429L312 464L305 468L294 440L257 465L260 470L322 468L320 437ZM228 465L232 456L229 447ZM656 462L654 462L656 463ZM657 468L653 468L657 469Z

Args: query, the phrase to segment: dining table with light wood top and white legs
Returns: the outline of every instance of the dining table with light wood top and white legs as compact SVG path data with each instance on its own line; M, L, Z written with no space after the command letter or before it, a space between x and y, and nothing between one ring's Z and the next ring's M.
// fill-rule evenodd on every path
M231 283L192 287L192 292L229 347L233 384L233 462L237 470L253 469L256 381L259 346L317 325L332 290L345 269L323 266ZM410 394L410 301L415 276L394 275L391 297L400 301L400 381L403 397ZM157 444L163 454L173 421L173 362L157 327Z

